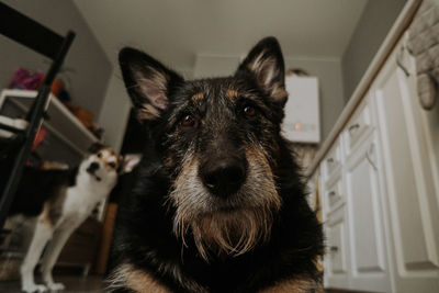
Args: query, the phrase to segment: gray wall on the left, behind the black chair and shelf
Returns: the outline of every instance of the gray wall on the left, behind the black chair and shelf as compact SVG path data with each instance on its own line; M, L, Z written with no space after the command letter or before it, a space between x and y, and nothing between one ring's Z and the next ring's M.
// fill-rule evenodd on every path
M69 91L74 104L88 109L97 120L112 65L71 0L3 0L2 2L60 35L65 35L68 30L77 33L64 64L65 67L75 70L66 74L71 86ZM0 35L0 88L8 86L18 66L46 71L48 64L44 60L44 56Z

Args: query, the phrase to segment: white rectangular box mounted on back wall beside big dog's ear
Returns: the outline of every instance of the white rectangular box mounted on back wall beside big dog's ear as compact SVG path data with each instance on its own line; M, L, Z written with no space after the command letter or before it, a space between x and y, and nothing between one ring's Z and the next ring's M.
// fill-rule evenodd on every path
M320 111L318 79L316 77L286 76L289 99L282 132L295 143L318 144L320 142Z

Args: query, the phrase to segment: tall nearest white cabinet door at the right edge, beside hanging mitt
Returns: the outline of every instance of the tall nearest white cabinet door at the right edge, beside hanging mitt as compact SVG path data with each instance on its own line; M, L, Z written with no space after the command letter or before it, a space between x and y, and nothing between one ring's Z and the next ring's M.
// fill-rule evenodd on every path
M431 149L432 138L437 140L439 134L426 137L415 78L396 66L395 54L379 75L374 92L387 182L395 291L439 292L439 188L432 157L438 154Z

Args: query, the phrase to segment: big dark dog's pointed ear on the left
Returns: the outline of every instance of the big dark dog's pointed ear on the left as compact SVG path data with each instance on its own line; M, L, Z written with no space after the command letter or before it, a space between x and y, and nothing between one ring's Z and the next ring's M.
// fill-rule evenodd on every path
M183 78L153 57L130 47L119 53L119 63L137 117L140 121L158 119L168 106L170 88L181 83Z

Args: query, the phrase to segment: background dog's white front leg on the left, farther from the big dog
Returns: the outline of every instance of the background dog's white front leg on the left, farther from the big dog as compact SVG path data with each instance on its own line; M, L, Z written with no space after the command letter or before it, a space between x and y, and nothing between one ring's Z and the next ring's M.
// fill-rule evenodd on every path
M40 216L36 222L34 235L27 249L26 257L21 266L21 289L24 292L44 292L45 285L37 285L34 281L35 266L40 260L42 251L53 235L53 227L44 217Z

